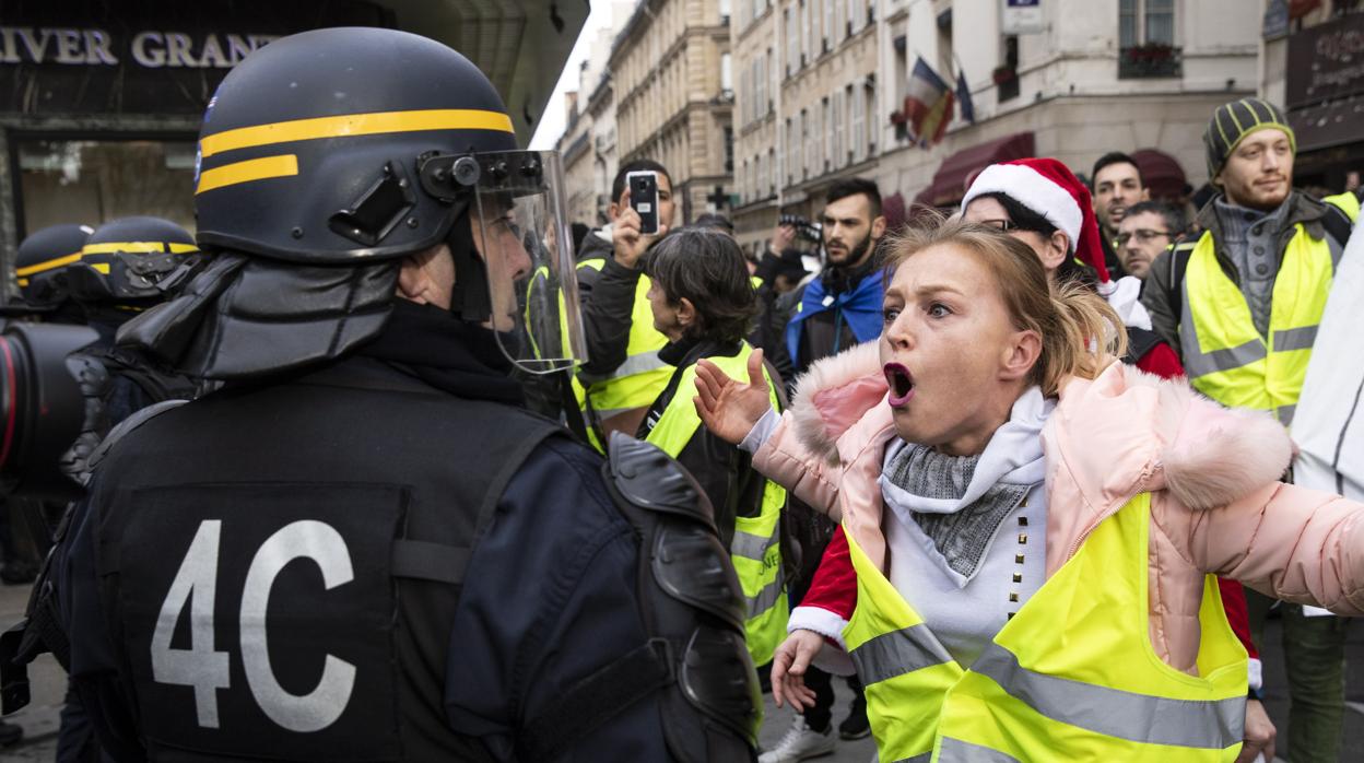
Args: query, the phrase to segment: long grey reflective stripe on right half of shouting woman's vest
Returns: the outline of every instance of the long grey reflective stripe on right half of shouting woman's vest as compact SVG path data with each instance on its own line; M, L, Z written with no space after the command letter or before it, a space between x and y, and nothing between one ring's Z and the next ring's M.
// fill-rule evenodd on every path
M1204 702L1097 687L1028 670L998 644L990 644L971 670L1037 712L1097 734L1198 749L1225 749L1243 738L1244 696Z

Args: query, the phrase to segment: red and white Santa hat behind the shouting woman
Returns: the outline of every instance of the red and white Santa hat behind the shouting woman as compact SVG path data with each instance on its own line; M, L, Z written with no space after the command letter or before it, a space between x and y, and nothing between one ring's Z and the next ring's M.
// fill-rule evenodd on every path
M962 209L985 194L1004 194L1056 225L1071 240L1071 253L1109 281L1103 243L1094 220L1090 190L1054 158L1020 158L986 167L962 199Z

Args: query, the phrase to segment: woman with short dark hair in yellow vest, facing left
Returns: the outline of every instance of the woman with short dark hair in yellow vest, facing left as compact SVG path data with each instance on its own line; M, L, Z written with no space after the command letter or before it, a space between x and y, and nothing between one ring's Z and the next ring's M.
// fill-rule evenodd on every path
M747 605L749 654L765 665L788 616L780 545L786 490L753 471L747 453L707 431L693 403L697 360L741 374L754 356L743 337L757 315L757 293L739 246L719 231L672 233L649 251L645 272L653 328L668 337L659 358L674 371L637 437L681 461L711 500ZM776 408L779 379L764 375L764 401Z

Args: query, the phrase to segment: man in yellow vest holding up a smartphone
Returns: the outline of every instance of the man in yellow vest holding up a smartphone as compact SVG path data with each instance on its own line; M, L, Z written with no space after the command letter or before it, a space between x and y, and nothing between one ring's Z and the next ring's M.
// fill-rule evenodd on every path
M648 194L651 187L656 198ZM636 198L634 191L648 198ZM653 329L645 296L649 278L641 262L645 250L672 227L672 177L656 161L634 160L617 172L611 198L611 222L588 233L578 262L588 362L578 369L576 393L584 411L591 411L589 426L600 424L600 434L633 435L672 373L657 356L667 337Z

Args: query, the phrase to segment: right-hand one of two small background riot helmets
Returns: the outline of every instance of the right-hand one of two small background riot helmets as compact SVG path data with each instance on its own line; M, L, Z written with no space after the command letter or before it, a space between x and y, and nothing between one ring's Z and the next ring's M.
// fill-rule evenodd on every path
M194 236L169 220L120 217L90 233L67 265L67 288L86 306L155 303L161 281L198 251Z

